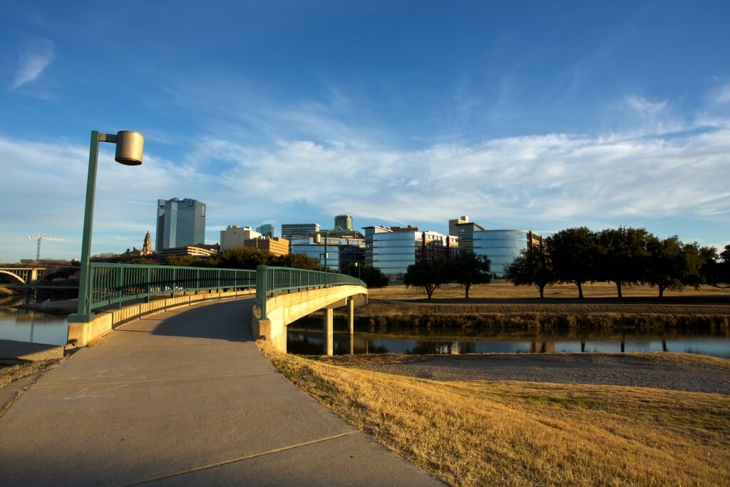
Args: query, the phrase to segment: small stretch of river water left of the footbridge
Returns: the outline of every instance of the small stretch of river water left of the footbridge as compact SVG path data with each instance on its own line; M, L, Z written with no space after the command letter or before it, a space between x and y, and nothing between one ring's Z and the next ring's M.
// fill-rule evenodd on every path
M66 344L69 323L65 316L12 307L22 303L22 299L3 299L0 302L0 340Z

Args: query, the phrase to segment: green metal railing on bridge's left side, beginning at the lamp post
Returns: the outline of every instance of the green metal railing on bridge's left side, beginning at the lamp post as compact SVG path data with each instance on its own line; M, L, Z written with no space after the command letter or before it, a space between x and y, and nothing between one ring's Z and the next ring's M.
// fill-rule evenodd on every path
M91 310L109 304L121 307L123 302L137 299L149 301L160 294L174 297L188 291L250 289L256 285L256 271L209 267L92 262L89 277Z

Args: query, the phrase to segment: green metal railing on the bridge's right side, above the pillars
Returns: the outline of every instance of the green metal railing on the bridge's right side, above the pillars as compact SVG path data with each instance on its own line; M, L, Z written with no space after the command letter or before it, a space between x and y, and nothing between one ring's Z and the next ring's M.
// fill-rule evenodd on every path
M308 271L291 267L256 267L256 304L261 319L266 319L266 298L277 292L299 289L326 288L333 285L367 285L357 277L336 272Z

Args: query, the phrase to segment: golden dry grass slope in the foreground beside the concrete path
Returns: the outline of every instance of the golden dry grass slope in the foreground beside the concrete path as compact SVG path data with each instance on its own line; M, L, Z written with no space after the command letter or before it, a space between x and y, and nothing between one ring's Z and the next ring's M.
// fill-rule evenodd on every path
M439 383L265 351L326 407L453 485L730 483L729 396Z

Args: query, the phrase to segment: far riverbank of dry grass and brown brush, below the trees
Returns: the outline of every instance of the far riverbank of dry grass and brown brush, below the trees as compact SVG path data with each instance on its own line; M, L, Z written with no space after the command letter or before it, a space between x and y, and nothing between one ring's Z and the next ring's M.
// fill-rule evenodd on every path
M575 287L575 286L573 286ZM571 286L550 286L547 297L529 297L529 288L511 284L478 286L472 299L463 299L461 286L444 286L441 298L424 299L422 291L404 286L370 290L369 303L358 308L356 326L369 329L417 328L485 329L510 331L585 330L696 330L730 331L730 291L699 291L650 296L652 288L628 288L626 297L610 296L610 285L585 286L586 299L575 299ZM346 323L343 310L334 314L336 326ZM301 324L320 321L318 315Z

